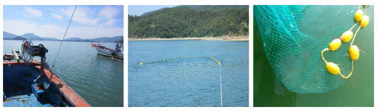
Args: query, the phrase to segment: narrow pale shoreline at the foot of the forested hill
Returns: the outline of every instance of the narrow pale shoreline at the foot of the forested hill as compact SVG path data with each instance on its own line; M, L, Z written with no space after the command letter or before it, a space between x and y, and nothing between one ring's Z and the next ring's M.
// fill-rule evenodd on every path
M128 41L152 41L152 40L249 41L249 36L235 36L235 37L186 37L186 38L128 38Z

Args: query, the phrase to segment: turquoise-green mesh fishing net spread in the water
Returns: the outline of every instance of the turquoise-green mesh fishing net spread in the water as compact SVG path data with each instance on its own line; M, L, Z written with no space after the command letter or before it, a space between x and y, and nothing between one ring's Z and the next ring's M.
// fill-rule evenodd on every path
M354 25L357 10L358 6L253 7L267 60L287 89L323 93L346 82L327 71L320 51ZM342 43L338 50L323 54L327 61L339 64L344 75L351 71L348 48L349 44Z

